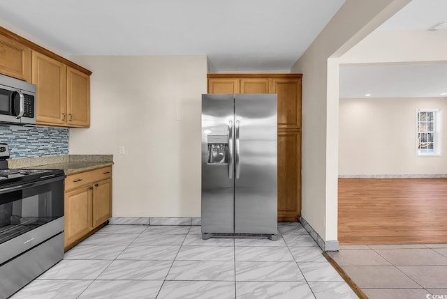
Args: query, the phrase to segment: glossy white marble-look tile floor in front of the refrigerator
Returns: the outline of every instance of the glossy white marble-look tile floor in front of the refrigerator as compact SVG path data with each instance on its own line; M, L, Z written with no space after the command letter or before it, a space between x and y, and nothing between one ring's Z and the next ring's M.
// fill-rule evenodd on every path
M108 225L12 298L358 298L299 223L276 241Z

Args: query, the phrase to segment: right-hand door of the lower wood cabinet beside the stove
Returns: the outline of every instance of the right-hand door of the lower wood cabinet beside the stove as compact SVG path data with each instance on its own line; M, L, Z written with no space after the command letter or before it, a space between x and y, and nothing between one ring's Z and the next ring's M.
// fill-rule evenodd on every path
M112 217L112 179L95 183L93 187L93 227Z

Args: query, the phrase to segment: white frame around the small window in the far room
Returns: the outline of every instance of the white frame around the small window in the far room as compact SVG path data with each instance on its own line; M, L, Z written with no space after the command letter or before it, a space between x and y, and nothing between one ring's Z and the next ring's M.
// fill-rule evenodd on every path
M421 131L419 130L419 114L420 112L433 112L433 130L425 131L432 132L433 134L433 152L432 153L421 153L420 152L420 142L419 142L419 134ZM418 157L439 157L442 155L441 152L441 109L416 109L416 156Z

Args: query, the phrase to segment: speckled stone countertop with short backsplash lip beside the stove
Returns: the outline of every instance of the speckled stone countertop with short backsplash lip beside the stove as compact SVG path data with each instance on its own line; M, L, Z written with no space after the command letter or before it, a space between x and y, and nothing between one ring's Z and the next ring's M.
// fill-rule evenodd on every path
M11 169L63 169L66 176L112 164L113 155L57 155L8 160Z

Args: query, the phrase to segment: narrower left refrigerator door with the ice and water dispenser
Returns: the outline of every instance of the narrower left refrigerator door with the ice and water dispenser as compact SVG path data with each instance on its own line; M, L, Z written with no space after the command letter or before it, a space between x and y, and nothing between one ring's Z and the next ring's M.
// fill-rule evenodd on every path
M233 95L202 95L202 233L234 233L233 127Z

